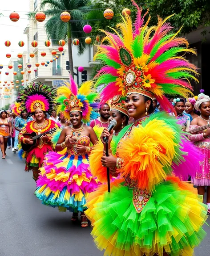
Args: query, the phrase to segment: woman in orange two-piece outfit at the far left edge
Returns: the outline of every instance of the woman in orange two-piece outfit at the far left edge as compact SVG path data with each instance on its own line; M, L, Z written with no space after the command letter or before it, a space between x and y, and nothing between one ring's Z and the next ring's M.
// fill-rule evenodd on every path
M12 134L12 123L8 118L6 110L0 111L0 148L2 153L2 159L5 159L7 140Z

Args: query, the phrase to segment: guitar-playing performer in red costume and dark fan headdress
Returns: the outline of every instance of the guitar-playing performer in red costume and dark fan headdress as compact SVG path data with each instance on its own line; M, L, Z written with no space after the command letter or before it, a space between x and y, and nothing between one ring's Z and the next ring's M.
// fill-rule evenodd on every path
M24 134L36 133L36 135L39 135L49 130L56 130L57 124L45 117L46 113L51 114L53 111L54 96L55 91L46 84L32 83L20 91L22 112L33 114L35 117L35 121L28 122L20 131L18 135L20 143L30 147L34 140L25 138ZM44 160L44 155L49 151L53 151L51 134L43 134L37 139L36 145L28 151L20 151L20 156L26 160L25 171L32 170L35 181L38 179L39 168Z

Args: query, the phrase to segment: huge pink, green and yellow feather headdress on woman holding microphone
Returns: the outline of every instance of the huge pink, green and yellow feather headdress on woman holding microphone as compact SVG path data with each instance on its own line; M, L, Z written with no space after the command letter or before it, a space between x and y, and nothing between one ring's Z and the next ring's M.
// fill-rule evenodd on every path
M95 60L101 60L105 66L98 72L96 86L105 84L101 92L102 101L108 101L115 95L125 97L136 92L149 98L156 97L163 109L174 111L173 106L164 94L172 96L190 96L192 87L189 79L198 81L197 68L189 63L181 53L195 53L189 49L185 38L178 38L177 33L170 32L172 27L158 17L156 26L148 27L150 17L144 23L145 15L137 8L137 17L132 24L129 15L122 17L114 34L101 30L106 34L98 46ZM108 45L107 45L108 43Z

